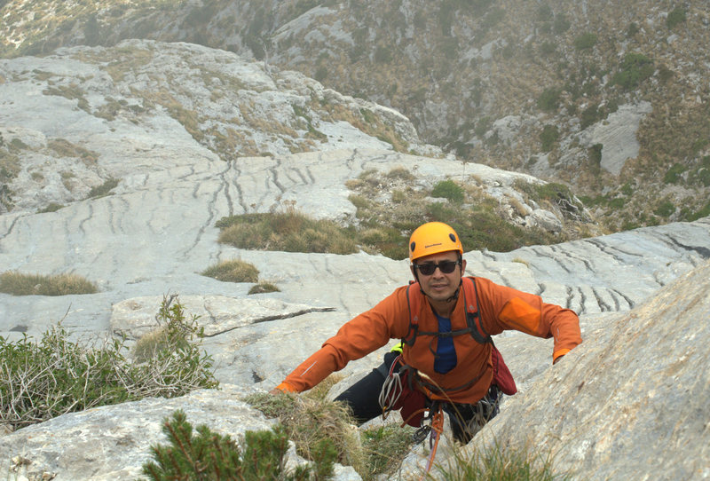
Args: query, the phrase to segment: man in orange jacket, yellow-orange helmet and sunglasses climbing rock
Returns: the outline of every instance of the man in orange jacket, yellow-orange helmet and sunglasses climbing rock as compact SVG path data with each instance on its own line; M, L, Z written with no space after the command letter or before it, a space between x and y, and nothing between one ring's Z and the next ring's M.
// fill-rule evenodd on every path
M351 406L359 422L401 408L403 418L414 417L415 422L405 418L413 425L424 407L439 403L450 416L454 437L467 443L498 413L501 390L515 393L491 335L515 329L554 337L553 362L582 339L574 311L491 280L463 277L462 256L461 240L449 225L418 227L409 240L415 282L345 323L272 393L309 390L349 361L401 339L401 354L386 354L383 366L336 400ZM392 390L391 381L399 376L406 382Z

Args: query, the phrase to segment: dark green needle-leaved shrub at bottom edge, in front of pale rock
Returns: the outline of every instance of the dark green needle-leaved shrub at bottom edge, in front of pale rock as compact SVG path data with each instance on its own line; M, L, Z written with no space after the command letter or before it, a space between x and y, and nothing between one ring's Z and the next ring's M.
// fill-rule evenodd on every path
M270 431L247 431L243 449L229 436L214 433L205 425L198 426L194 434L193 426L180 410L172 414L172 419L165 419L162 431L170 444L151 446L154 461L143 465L143 474L153 481L311 477L310 467L299 466L293 473L283 472L288 437L280 426ZM323 472L325 475L333 471L332 456L327 460L330 464Z

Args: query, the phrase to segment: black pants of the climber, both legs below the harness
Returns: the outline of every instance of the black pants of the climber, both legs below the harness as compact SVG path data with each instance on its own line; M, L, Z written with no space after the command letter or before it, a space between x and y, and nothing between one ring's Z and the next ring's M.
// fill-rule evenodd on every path
M383 414L379 402L380 391L397 357L397 353L388 352L384 355L384 362L380 367L373 369L335 398L336 401L342 401L351 407L355 420L360 424ZM454 438L461 443L468 443L485 422L492 420L498 414L501 396L498 387L492 385L485 398L477 404L445 403L444 410L449 415Z

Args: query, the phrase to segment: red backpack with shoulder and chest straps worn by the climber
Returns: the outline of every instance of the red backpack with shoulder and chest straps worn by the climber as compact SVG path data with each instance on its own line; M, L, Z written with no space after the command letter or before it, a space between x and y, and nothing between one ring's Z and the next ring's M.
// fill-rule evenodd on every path
M402 339L402 346L412 346L416 342L418 335L435 335L438 337L454 337L457 335L471 335L480 344L491 344L491 361L493 364L493 382L501 392L513 395L517 392L516 383L510 374L509 368L505 365L501 352L495 347L493 338L485 332L481 322L480 310L478 308L478 291L476 280L472 277L461 279L461 292L463 302L466 307L466 325L464 329L457 329L447 333L419 331L419 319L417 313L420 309L422 296L411 296L410 288L416 283L412 282L406 288L407 306L409 308L409 329L406 337ZM418 284L416 284L418 287ZM476 299L476 303L469 303L467 299ZM396 367L400 367L395 372ZM468 387L477 381L477 377L470 382L454 388L460 390ZM380 393L380 406L383 408L383 415L389 411L400 410L402 419L406 424L416 428L421 426L424 413L427 410L427 398L431 400L446 401L446 390L442 390L427 382L424 375L419 373L414 367L406 366L401 355L396 359L383 384Z

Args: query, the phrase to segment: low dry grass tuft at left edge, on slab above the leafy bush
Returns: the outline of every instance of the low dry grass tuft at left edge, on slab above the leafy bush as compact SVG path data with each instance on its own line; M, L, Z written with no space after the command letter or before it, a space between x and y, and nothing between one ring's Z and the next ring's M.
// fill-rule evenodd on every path
M95 294L96 285L77 274L45 276L7 271L0 274L0 292L12 296L69 296Z

